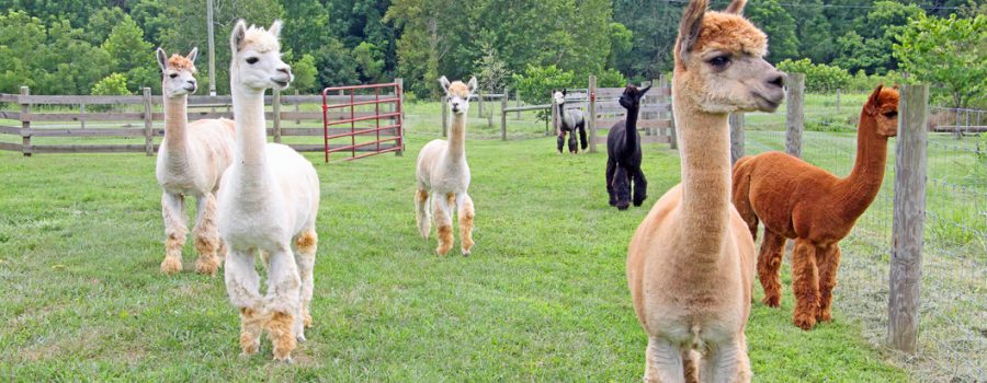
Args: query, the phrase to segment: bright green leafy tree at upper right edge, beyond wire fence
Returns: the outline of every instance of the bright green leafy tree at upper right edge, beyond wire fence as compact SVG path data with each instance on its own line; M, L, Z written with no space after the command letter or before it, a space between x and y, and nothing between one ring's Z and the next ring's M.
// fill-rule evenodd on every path
M967 107L987 96L987 15L973 19L912 19L894 56L915 80L930 82L945 93L954 107Z

